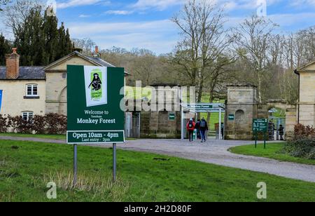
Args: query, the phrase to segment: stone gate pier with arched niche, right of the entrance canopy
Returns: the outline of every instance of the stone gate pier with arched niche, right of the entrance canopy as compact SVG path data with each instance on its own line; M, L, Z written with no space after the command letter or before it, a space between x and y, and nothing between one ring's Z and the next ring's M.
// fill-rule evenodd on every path
M267 118L267 105L258 104L257 87L230 85L225 110L225 139L251 140L253 119Z

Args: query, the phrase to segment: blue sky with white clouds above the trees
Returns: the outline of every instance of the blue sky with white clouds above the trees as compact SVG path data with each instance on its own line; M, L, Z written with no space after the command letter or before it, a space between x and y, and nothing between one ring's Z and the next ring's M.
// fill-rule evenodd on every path
M90 37L100 48L147 48L169 53L179 39L170 18L186 0L57 0L57 16L73 38ZM257 13L264 0L207 0L225 5L228 27ZM288 34L315 25L315 0L267 0L268 17Z

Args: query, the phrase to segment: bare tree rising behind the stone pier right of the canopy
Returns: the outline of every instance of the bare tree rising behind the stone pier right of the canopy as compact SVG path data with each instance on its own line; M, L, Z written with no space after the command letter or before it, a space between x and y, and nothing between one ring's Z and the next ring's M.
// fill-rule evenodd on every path
M276 25L272 21L253 15L236 29L237 45L245 51L240 57L250 66L257 79L259 102L262 102L262 93L265 90L262 83L268 72L269 63L276 60L269 55L269 48L272 46L272 32L275 27Z

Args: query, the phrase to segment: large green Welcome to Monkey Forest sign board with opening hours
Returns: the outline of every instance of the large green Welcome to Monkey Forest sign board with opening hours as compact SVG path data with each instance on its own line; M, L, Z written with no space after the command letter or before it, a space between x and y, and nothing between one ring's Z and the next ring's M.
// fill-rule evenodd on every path
M68 65L67 72L67 143L125 142L124 69Z

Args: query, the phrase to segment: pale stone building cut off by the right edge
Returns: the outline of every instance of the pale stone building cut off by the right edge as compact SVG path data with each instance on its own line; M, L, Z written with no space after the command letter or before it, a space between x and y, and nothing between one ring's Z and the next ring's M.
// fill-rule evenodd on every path
M297 123L315 126L315 61L295 70L299 76Z

